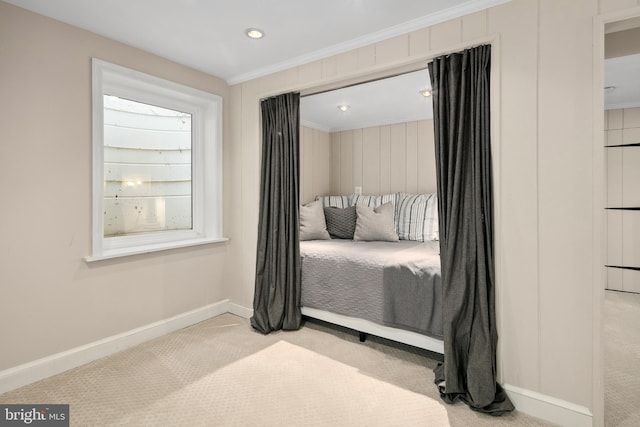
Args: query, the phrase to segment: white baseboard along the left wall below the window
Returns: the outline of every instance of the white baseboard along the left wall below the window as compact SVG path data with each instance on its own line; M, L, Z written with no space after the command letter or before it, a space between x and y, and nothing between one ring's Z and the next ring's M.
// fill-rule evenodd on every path
M239 314L243 312L241 309L244 309L244 307L225 299L118 335L0 371L0 394L227 312L242 316L242 314Z

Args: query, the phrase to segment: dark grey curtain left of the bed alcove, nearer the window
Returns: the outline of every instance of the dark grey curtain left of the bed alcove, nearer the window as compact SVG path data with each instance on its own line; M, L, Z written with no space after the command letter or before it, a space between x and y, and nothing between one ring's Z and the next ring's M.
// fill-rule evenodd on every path
M300 313L300 94L261 102L262 170L251 325L298 329Z

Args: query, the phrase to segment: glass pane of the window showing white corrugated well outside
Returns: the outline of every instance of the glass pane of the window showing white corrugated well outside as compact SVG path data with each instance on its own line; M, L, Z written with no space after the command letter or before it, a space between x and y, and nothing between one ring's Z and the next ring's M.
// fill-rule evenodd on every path
M104 95L104 237L191 230L191 114Z

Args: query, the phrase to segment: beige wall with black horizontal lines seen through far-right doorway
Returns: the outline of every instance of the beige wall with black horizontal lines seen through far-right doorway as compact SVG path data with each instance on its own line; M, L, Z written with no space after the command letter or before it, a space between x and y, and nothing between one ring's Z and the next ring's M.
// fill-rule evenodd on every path
M605 112L607 207L640 207L640 108ZM616 147L617 146L617 147ZM640 267L640 212L607 210L607 265ZM607 289L640 293L640 271L607 269Z

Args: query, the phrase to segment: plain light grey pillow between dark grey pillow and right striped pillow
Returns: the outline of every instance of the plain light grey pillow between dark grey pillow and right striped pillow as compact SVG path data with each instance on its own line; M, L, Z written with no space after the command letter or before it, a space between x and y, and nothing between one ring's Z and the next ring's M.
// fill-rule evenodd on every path
M353 240L382 240L387 242L397 242L393 224L393 205L385 203L375 209L368 206L356 205L356 231Z

